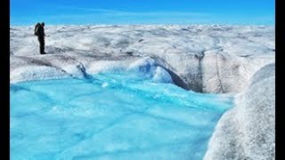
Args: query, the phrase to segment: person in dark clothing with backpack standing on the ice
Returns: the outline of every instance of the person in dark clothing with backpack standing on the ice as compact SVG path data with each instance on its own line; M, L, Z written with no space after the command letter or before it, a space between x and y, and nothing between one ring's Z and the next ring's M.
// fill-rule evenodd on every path
M42 22L35 26L35 35L37 36L37 40L39 42L39 53L46 54L45 52L45 22Z

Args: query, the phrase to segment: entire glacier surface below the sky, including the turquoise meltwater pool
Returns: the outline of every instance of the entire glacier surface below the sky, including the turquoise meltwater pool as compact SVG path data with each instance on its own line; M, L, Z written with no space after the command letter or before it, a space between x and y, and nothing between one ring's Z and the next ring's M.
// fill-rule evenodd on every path
M126 159L127 156L201 159L207 149L206 141L225 110L222 104L228 99L222 95L186 93L181 88L174 88L173 84L176 84L195 92L240 95L235 99L236 106L217 124L206 159L273 157L274 130L268 129L274 126L275 118L274 71L271 67L263 67L275 61L274 26L46 24L45 33L49 35L45 42L46 55L38 54L33 28L10 29L12 97L22 96L11 100L13 105L20 104L12 111L16 116L11 116L11 126L23 126L21 132L12 134L13 150L20 150L14 153L27 154L29 159L38 156L42 159L43 154L50 156L46 156L47 159L54 155L64 158L80 152L84 154L74 156L75 159L94 159L93 156L102 159ZM140 76L127 74L122 78L113 75L118 72L136 72ZM16 84L60 78L69 80ZM128 99L123 99L124 96ZM154 100L159 101L154 103ZM258 100L267 101L256 103ZM221 106L213 106L211 101ZM126 107L122 108L120 104L125 102ZM105 108L106 105L109 107ZM109 115L113 110L118 113ZM211 111L215 114L209 114ZM96 117L99 120L94 121ZM133 125L124 124L126 121ZM29 125L31 122L35 124ZM90 122L94 125L85 125ZM154 128L143 130L139 128L142 124L145 127L154 124ZM203 132L197 128L201 125ZM97 127L94 131L98 133L93 132L93 127ZM134 127L141 130L134 130ZM118 132L114 133L114 130ZM127 136L133 133L137 136L129 140ZM112 139L119 140L117 135L122 141ZM148 137L143 137L145 135ZM201 136L203 143L193 142L197 136ZM40 148L43 143L46 149ZM195 151L197 155L193 150L199 150ZM31 152L35 155L28 155Z

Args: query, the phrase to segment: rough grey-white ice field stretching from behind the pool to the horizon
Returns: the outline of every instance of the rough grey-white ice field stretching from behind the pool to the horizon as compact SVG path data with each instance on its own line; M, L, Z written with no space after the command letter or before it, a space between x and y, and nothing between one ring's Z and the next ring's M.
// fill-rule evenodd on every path
M38 54L33 27L10 30L11 82L27 80L27 71L36 79L53 78L53 72L77 75L77 66L94 74L100 64L120 63L118 68L124 68L134 59L151 57L187 90L240 92L275 57L274 27L265 26L46 24L47 55ZM48 73L37 76L44 70Z

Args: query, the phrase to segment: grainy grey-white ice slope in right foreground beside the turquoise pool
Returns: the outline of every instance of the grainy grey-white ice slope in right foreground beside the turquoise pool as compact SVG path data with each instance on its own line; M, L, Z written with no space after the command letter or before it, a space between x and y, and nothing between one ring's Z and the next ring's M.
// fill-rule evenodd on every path
M275 64L251 77L216 125L205 160L275 159Z

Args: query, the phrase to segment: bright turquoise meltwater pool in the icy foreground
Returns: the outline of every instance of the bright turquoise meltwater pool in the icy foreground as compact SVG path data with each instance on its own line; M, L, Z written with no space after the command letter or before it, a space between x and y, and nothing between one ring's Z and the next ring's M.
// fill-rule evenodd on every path
M232 97L132 73L11 84L11 159L191 159Z

